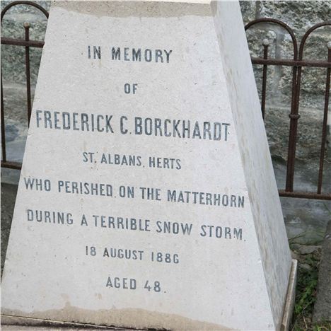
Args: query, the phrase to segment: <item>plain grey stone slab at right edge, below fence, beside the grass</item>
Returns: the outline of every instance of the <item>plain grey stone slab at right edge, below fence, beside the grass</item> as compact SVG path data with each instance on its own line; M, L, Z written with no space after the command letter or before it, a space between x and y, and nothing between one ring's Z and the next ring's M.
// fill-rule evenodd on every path
M331 221L327 226L318 273L318 294L314 307L315 323L331 321Z

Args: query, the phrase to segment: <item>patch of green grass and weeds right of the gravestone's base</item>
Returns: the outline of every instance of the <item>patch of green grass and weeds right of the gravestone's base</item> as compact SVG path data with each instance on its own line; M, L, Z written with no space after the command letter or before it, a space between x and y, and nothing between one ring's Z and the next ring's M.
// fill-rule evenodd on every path
M295 250L294 250L295 252ZM296 302L292 318L292 331L330 331L331 322L313 323L313 309L318 285L320 249L307 255L298 255Z

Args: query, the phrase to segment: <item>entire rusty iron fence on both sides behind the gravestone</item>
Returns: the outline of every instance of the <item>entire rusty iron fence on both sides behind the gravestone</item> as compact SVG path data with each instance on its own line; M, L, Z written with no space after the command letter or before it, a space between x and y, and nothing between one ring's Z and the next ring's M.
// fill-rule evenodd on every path
M1 11L1 23L4 18L4 14L9 8L17 6L20 4L25 4L33 6L48 18L48 12L32 1L13 1L8 4ZM331 200L331 192L322 192L323 185L323 168L325 163L325 151L327 144L327 112L329 108L329 96L330 96L330 74L331 74L331 42L328 43L328 52L325 56L325 61L317 60L307 60L303 59L303 50L306 45L306 40L316 29L331 26L330 22L323 22L313 25L306 33L303 35L301 43L298 47L298 42L294 31L286 25L286 23L278 21L273 18L260 18L258 20L252 21L245 25L245 30L248 30L253 25L259 23L271 23L274 25L279 25L281 28L286 30L291 36L293 42L293 59L272 59L268 57L268 47L269 41L263 40L263 57L252 57L252 64L257 64L262 66L262 93L261 93L261 110L262 117L265 119L266 110L266 97L267 97L267 66L291 66L292 67L292 90L291 90L291 112L289 114L289 147L287 153L286 162L286 187L284 190L279 190L279 195L281 197L298 197L306 199L324 199ZM30 40L29 29L30 24L24 23L25 28L25 39L13 39L8 37L1 37L2 45L16 45L25 47L25 73L26 73L26 93L27 93L27 110L28 122L30 121L31 115L31 88L30 88L30 47L43 47L44 42L37 40ZM300 91L301 91L301 71L304 66L325 68L326 83L325 83L325 101L324 101L324 113L323 113L323 124L321 127L322 139L320 142L320 162L318 169L318 185L315 192L298 192L294 190L294 171L295 171L295 158L296 158L296 143L297 143L297 132L298 132L298 120L300 118L299 114L299 103L300 103ZM3 96L3 86L2 86L2 74L1 74L1 144L2 144L2 159L1 167L21 169L21 163L16 163L8 161L6 158L6 134L5 134L5 124L4 124L4 96Z

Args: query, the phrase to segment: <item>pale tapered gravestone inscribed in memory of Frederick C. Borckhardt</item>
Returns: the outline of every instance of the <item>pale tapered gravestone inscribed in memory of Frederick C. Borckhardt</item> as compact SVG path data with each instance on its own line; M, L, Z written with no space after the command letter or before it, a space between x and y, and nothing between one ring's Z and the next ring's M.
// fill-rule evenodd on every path
M238 3L55 1L4 318L278 330L291 265Z

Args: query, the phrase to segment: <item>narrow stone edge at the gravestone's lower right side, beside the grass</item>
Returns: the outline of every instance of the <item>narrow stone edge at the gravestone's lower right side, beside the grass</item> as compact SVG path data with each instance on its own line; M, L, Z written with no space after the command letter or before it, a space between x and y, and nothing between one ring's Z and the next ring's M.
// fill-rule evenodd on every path
M292 260L291 272L289 275L289 286L287 288L286 301L284 306L283 320L281 322L281 331L289 331L291 318L296 297L296 275L298 271L298 261Z

